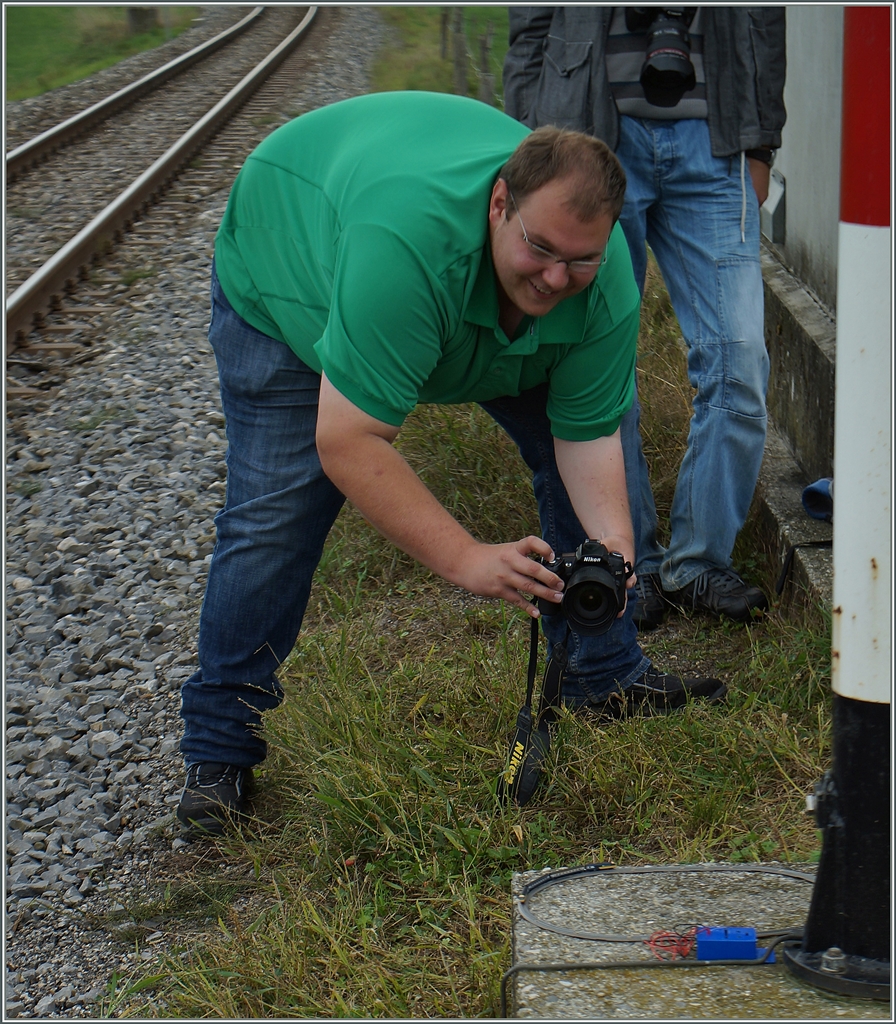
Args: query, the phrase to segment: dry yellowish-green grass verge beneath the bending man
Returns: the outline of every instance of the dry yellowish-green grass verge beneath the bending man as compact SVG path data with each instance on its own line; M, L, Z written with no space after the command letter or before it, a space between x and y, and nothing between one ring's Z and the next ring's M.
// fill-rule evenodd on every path
M403 10L412 27L424 18ZM438 23L427 16L431 48ZM638 373L663 516L690 390L652 264L649 274ZM477 408L422 407L399 444L476 536L538 530L525 469ZM751 523L738 558L771 589L773 567L758 550ZM129 913L176 939L143 973L114 979L108 1012L494 1017L510 966L514 871L817 858L803 802L828 761L822 612L788 617L774 607L750 627L681 615L647 635L663 668L723 677L726 703L610 725L564 716L545 785L520 811L499 806L495 785L527 644L522 613L434 578L347 508L284 666L287 700L266 719L255 817L159 864L156 891L135 897ZM231 891L234 879L242 888ZM205 915L172 899L190 886L218 894Z

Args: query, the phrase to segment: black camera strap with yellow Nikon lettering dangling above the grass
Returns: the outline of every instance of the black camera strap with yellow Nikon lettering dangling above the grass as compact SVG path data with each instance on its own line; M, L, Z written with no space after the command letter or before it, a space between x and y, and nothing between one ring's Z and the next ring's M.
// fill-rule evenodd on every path
M532 715L536 671L539 660L539 620L531 621L528 672L525 703L516 716L516 732L510 743L507 767L498 780L498 799L513 802L518 807L527 804L535 796L541 781L542 762L551 749L551 726L560 708L560 685L566 668L566 643L569 629L562 644L554 644L551 657L545 667L538 715Z

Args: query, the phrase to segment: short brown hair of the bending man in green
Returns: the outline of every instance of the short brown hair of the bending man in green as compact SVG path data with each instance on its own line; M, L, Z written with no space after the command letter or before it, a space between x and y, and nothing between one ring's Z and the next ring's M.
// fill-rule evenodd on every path
M606 142L550 125L526 135L498 176L517 204L549 181L571 179L568 205L580 220L610 213L615 223L626 198L626 172Z

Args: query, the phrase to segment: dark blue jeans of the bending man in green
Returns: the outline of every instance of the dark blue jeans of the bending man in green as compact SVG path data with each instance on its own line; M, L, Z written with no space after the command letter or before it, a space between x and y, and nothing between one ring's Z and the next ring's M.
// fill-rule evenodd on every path
M343 496L314 445L321 378L282 342L250 327L212 272L209 338L227 424L227 492L200 616L199 670L183 684L181 752L187 764L251 767L264 759L261 714L283 699L279 666L292 650L311 577ZM544 536L555 553L585 540L554 460L546 389L486 404L534 473ZM562 616L545 616L552 642ZM526 633L520 632L525 643ZM649 668L631 606L603 637L571 637L568 705L633 683ZM520 685L524 681L520 681Z

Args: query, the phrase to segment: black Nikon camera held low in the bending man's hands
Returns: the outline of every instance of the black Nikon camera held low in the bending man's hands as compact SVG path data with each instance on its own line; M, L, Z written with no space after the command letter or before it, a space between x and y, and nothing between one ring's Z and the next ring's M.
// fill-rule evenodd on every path
M584 637L606 633L626 606L626 581L632 574L630 562L617 551L607 551L600 541L584 541L579 549L552 562L541 559L563 581L559 605L539 598L543 615L565 615L569 629Z

